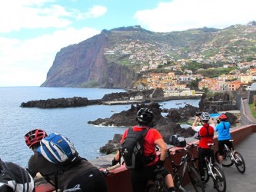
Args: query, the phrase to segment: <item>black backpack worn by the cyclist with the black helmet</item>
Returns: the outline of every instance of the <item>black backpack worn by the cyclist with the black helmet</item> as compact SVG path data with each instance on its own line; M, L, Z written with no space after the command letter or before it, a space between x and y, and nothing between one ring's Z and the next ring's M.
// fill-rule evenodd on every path
M139 170L145 166L145 157L143 155L143 140L149 127L142 131L128 129L127 137L121 143L120 153L124 158L125 167L128 169Z

